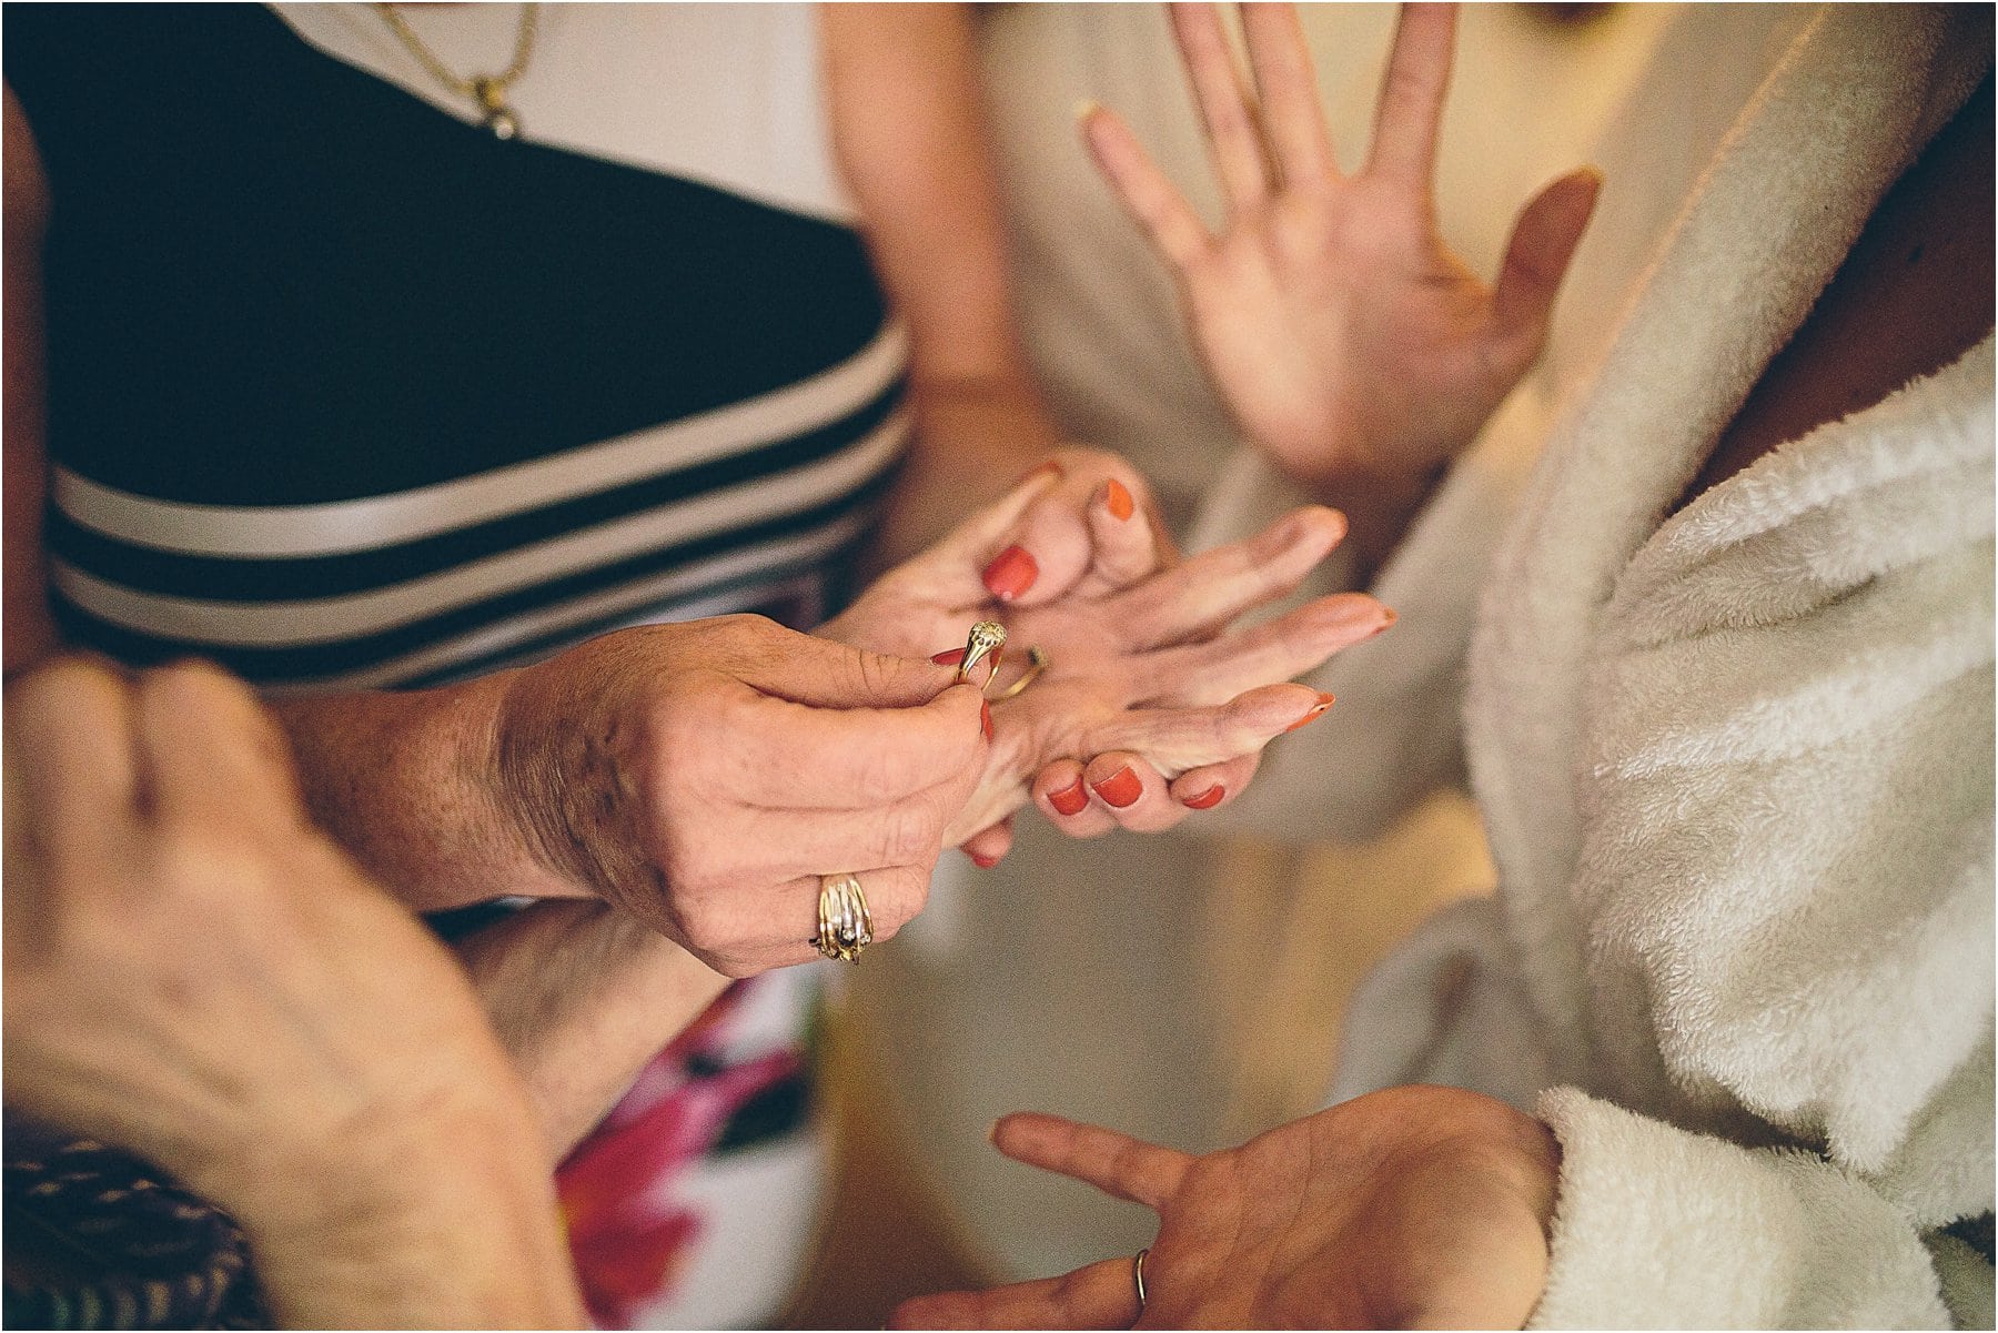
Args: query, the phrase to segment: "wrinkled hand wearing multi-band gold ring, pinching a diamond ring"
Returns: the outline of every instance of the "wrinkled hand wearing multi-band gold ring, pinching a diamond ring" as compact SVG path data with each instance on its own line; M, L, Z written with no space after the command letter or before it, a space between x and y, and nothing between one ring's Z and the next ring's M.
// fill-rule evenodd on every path
M859 875L887 939L985 767L983 703L951 679L757 616L607 634L507 687L501 825L557 891L723 975L817 957L821 875Z

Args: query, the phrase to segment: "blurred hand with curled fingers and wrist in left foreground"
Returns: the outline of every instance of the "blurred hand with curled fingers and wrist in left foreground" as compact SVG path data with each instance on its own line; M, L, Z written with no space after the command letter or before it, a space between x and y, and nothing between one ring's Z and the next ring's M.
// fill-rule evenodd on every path
M288 1325L581 1317L505 1053L248 689L58 662L8 689L6 769L10 1105L234 1213Z

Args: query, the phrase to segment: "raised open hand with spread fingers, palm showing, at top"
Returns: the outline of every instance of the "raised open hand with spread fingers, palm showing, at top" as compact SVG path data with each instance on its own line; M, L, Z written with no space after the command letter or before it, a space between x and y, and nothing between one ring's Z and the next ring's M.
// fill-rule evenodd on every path
M1373 152L1345 176L1297 12L1241 6L1243 88L1213 6L1173 6L1227 226L1211 236L1111 112L1087 144L1173 268L1195 346L1245 434L1307 486L1417 480L1463 450L1538 356L1598 176L1520 214L1495 288L1437 234L1431 178L1455 8L1403 8Z

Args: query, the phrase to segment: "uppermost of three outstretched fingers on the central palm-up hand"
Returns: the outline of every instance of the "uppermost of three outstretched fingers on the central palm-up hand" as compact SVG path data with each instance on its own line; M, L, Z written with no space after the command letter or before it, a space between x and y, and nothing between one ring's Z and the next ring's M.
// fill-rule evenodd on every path
M1295 590L1347 536L1337 510L1307 506L1245 542L1201 552L1177 570L1109 602L1107 624L1129 648L1215 634L1247 610Z

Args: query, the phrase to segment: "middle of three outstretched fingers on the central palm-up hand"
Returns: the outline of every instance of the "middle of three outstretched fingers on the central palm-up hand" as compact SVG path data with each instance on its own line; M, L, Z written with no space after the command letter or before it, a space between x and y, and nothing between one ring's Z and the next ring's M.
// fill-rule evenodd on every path
M1245 689L1293 679L1327 658L1375 638L1395 624L1395 612L1367 594L1333 594L1277 620L1203 644L1167 648L1145 658L1151 705L1203 707Z

